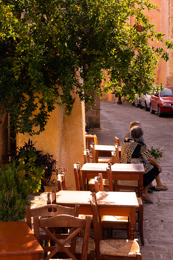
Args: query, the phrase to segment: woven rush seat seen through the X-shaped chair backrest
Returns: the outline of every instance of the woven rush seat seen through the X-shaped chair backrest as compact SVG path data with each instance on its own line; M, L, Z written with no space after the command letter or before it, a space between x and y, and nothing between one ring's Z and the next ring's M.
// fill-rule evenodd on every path
M63 242L63 240L59 240L60 242ZM82 253L82 243L83 243L83 237L77 237L76 240L76 250L75 254L81 254ZM70 241L66 243L66 246L70 246ZM91 251L95 251L95 242L93 238L89 238L89 243L88 243L88 251L87 254L90 254ZM59 251L61 252L61 250Z

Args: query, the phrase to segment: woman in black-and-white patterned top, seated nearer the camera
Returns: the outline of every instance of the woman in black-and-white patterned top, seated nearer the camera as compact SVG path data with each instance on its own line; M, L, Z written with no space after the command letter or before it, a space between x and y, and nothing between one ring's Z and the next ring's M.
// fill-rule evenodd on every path
M121 148L122 163L140 163L144 165L145 173L143 176L143 200L149 203L153 201L148 196L149 184L156 179L158 191L167 191L168 187L160 181L159 173L162 172L160 165L154 160L146 148L146 144L139 141L143 136L140 126L135 126L130 130L130 138L124 139ZM146 162L149 161L149 162Z

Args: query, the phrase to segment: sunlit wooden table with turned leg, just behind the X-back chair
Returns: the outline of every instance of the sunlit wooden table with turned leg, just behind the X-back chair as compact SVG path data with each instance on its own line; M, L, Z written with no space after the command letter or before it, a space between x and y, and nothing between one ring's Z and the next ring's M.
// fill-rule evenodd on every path
M92 215L90 206L91 191L59 191L56 193L56 203L72 207L80 205L79 213ZM109 216L130 217L130 239L135 239L136 207L139 206L135 192L109 192L96 193L98 214Z

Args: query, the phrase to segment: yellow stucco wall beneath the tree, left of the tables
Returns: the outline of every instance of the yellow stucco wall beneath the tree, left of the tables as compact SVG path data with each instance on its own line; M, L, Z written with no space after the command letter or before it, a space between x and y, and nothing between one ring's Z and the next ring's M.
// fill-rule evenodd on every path
M64 115L63 108L57 106L50 114L44 132L39 136L18 134L16 139L18 147L30 139L33 142L37 141L34 146L38 150L43 150L43 154L53 154L53 158L58 160L56 168L68 169L65 172L68 190L76 190L73 165L76 162L83 165L85 150L85 106L75 93L74 97L76 101L70 117Z

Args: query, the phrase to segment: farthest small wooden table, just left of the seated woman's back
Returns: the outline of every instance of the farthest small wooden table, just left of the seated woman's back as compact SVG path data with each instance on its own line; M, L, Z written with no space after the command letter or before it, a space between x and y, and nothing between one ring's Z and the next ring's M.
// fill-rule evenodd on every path
M98 162L99 156L100 157L112 157L111 152L115 151L115 146L98 144L98 145L94 146L94 149L95 149L95 159L96 159L96 162ZM121 146L118 146L118 150L119 150L120 157L121 157Z

